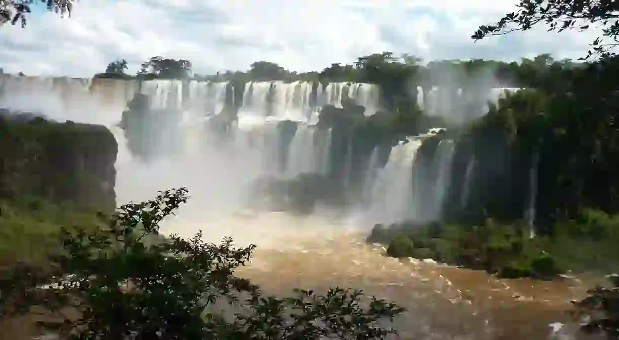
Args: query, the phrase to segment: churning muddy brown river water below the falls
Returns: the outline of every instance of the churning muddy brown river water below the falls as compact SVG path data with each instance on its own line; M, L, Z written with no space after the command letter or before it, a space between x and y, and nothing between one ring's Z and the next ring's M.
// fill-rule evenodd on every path
M571 300L593 284L582 277L497 279L431 261L396 260L364 242L368 231L326 219L244 213L210 221L177 218L164 231L188 237L202 229L213 242L233 236L238 245L257 244L251 264L238 274L268 294L289 295L297 287L322 294L339 286L396 302L407 308L394 320L398 339L573 339L564 334L576 328ZM0 339L32 339L25 336L32 334L26 323L0 322ZM554 336L553 323L565 324Z

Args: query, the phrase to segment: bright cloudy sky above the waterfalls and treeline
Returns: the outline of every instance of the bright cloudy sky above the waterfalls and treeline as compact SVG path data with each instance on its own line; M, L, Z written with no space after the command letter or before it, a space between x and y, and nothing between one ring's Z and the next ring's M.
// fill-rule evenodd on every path
M517 0L80 0L70 18L40 9L28 27L0 28L0 67L27 75L89 77L126 59L189 59L194 71L246 70L254 61L321 70L379 51L424 60L577 59L593 32L526 33L477 41Z

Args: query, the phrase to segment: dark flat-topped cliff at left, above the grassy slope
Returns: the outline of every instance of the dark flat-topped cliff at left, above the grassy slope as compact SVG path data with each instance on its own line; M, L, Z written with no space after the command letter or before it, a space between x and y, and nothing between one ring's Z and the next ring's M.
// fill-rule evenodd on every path
M111 210L117 151L113 134L102 125L0 109L0 197L31 195Z

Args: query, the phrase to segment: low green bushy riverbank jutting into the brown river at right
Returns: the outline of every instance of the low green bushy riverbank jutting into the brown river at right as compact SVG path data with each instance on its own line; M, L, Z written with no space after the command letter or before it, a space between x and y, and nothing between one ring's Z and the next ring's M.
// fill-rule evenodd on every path
M503 278L555 279L567 271L616 271L618 227L617 216L583 210L578 219L556 223L553 234L535 237L524 223L487 218L478 225L377 225L366 241L383 244L387 255L394 258L429 258Z

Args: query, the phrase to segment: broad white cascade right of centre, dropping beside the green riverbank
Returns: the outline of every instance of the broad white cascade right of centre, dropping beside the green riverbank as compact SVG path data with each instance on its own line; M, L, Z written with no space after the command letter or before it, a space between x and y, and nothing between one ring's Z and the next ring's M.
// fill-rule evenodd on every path
M396 223L410 216L412 169L420 140L400 142L391 149L387 164L378 171L372 189L370 219L375 223Z

